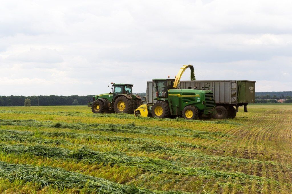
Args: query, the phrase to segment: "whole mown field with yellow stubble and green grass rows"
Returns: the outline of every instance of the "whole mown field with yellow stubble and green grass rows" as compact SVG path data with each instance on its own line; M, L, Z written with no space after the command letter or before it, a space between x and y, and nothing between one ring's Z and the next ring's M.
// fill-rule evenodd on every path
M0 192L291 193L292 104L235 119L0 107Z

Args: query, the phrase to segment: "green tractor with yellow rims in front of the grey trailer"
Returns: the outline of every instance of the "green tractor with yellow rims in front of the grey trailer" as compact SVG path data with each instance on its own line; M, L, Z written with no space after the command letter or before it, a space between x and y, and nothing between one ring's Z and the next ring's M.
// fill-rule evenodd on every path
M91 107L93 113L133 114L142 104L142 98L132 93L133 84L111 84L112 91L93 96L93 102L88 102L88 107Z

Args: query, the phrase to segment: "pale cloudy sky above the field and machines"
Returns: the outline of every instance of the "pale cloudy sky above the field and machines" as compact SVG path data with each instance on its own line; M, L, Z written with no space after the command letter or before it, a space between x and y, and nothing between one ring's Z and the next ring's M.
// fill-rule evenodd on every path
M0 96L90 95L171 78L292 91L291 0L1 0ZM190 79L186 70L181 80Z

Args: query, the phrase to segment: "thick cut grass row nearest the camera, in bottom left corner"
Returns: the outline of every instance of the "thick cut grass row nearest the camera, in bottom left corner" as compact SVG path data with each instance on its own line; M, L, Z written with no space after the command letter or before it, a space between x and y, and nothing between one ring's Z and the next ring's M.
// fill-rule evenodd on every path
M53 185L56 188L72 188L75 191L93 193L182 193L153 191L134 185L118 184L106 179L92 177L60 168L9 164L0 162L0 177L9 181L22 180L37 183L40 188Z

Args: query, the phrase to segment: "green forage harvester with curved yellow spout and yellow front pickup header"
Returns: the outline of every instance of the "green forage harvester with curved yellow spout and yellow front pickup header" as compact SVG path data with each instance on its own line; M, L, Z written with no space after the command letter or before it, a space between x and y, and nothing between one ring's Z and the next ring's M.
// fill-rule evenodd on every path
M169 118L171 116L183 116L185 119L206 118L210 119L215 110L213 92L208 87L201 90L177 89L184 71L192 65L184 65L175 76L175 79L154 79L157 100L153 104L144 104L135 109L135 115L142 117ZM192 75L191 75L192 78ZM193 76L194 78L194 76Z

